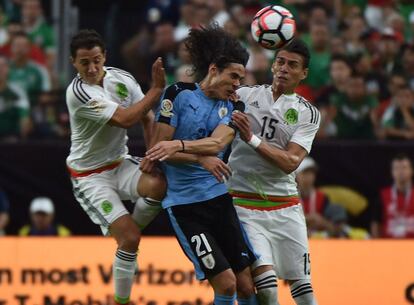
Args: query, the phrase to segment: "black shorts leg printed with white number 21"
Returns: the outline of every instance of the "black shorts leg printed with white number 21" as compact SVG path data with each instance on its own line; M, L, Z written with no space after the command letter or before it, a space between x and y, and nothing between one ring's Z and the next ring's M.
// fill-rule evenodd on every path
M198 209L197 213L192 210ZM184 253L194 264L199 280L210 279L230 268L216 238L213 228L205 219L200 219L204 204L174 206L167 209L171 225Z

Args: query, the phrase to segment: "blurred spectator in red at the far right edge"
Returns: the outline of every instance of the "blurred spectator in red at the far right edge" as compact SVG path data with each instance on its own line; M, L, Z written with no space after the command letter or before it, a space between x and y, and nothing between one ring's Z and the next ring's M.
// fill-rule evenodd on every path
M380 192L381 214L372 223L372 235L386 238L414 238L413 166L407 155L391 161L393 184Z

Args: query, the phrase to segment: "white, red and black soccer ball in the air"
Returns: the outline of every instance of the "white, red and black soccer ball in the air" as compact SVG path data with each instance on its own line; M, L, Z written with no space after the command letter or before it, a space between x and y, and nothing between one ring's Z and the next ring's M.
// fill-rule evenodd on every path
M291 12L282 6L270 5L256 13L251 24L254 40L262 47L275 50L295 36L296 23Z

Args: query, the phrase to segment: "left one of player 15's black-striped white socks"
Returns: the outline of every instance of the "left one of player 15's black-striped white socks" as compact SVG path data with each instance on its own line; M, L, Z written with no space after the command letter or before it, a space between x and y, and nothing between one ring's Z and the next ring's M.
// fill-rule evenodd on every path
M274 270L263 272L253 278L259 305L279 305L277 300L277 277Z

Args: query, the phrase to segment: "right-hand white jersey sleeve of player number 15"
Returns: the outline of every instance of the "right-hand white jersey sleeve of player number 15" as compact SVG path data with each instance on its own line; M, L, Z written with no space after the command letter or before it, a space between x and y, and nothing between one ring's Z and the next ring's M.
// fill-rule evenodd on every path
M299 125L292 135L290 142L299 144L310 153L313 140L319 129L321 115L316 107L307 105L302 110L300 116Z

